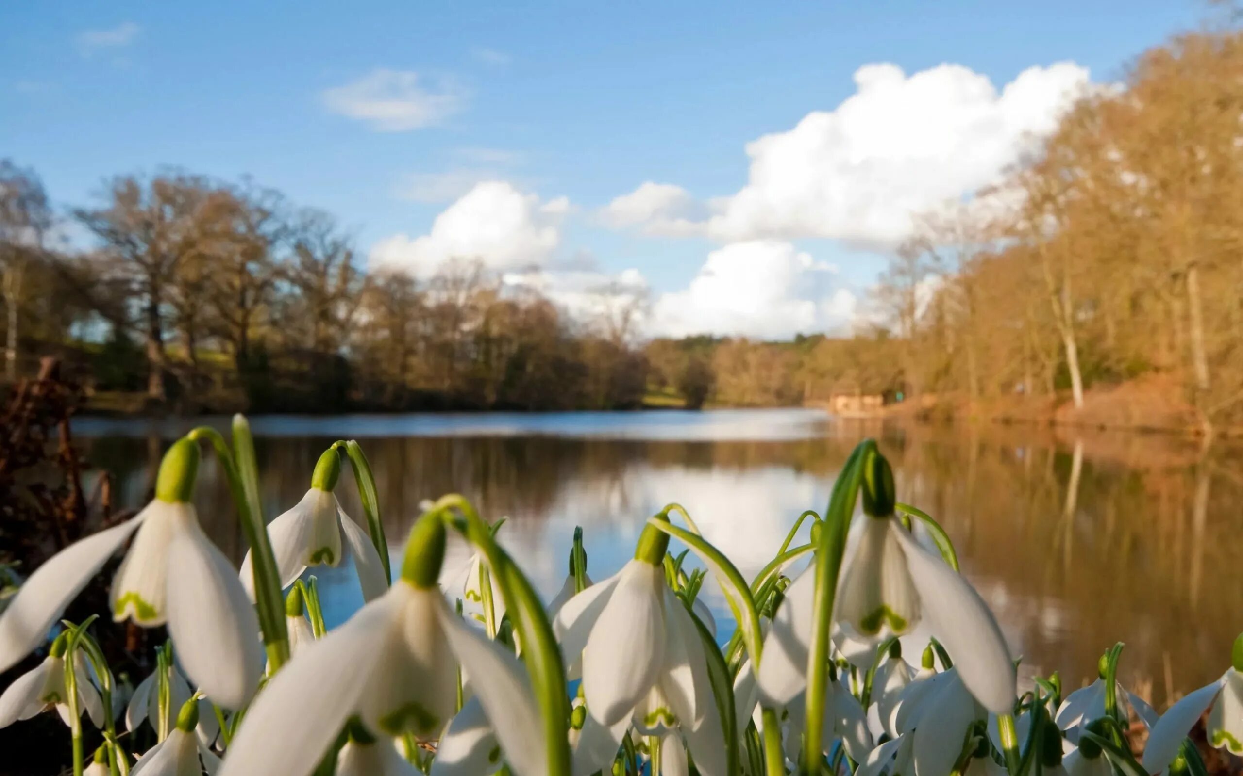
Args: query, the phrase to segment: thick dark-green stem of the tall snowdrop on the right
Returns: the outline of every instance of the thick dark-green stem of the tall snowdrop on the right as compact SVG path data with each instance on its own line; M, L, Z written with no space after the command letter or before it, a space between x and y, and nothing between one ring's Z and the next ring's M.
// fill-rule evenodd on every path
M838 574L845 551L846 533L859 498L859 487L866 464L879 456L876 443L864 440L850 453L842 474L833 484L829 508L824 513L819 541L815 548L815 597L812 644L807 656L807 719L803 729L804 770L819 774L822 756L820 734L824 725L824 704L829 689L829 633L833 625L833 603L837 598Z

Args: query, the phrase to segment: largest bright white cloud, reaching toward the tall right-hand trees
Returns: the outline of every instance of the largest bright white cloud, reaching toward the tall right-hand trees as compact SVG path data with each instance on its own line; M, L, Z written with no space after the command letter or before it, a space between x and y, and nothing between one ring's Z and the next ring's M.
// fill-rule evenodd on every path
M1028 68L1001 91L961 65L911 76L866 65L854 81L855 93L833 111L747 144L747 184L709 201L709 217L687 220L676 186L644 184L605 209L630 219L613 223L721 241L828 237L891 247L914 214L997 183L1090 88L1073 62Z

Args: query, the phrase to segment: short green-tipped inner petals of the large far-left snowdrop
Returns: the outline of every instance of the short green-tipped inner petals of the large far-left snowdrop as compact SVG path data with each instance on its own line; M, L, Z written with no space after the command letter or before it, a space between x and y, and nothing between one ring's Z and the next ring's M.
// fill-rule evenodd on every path
M129 618L152 628L168 621L168 548L195 517L190 504L160 500L144 512L147 519L112 580L108 606L117 622Z

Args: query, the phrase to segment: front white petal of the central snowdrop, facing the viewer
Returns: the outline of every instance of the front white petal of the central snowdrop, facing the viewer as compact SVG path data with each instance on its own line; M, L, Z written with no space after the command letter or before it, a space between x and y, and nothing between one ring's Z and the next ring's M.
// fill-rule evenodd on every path
M588 711L600 724L629 716L656 683L666 641L664 587L664 569L628 561L587 638L583 692Z

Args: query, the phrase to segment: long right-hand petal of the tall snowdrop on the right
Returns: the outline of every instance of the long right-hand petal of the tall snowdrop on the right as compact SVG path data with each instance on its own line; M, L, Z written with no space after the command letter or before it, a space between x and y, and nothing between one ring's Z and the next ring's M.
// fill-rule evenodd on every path
M953 657L962 683L993 714L1012 713L1018 675L988 605L962 575L919 546L905 530L891 533L906 553L924 613Z

